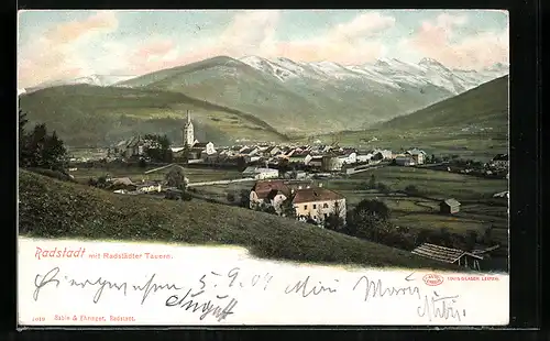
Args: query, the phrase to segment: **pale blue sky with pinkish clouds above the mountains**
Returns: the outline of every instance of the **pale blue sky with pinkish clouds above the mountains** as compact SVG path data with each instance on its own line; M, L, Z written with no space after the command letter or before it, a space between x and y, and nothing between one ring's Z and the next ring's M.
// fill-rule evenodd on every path
M226 55L361 65L380 58L481 69L508 64L496 10L20 11L18 87L138 76Z

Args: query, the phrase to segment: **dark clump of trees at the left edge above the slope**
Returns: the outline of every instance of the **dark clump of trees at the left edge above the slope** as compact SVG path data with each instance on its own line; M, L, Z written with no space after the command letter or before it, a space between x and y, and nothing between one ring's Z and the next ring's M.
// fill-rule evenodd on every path
M48 133L46 124L36 124L32 131L25 129L26 113L19 111L19 166L23 168L43 168L66 172L68 166L67 150L63 140L53 131Z

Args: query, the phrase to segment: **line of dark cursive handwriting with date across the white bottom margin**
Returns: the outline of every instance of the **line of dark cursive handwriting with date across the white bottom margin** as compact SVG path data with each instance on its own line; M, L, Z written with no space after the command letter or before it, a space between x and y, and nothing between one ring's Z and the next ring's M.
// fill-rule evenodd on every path
M409 297L417 301L411 314L429 322L437 320L461 321L466 316L466 310L459 308L459 295L442 295L430 289L428 293L420 280L414 278L414 273L398 283L387 283L369 274L363 274L353 280L332 278L321 282L312 275L305 275L299 279L289 280L285 276L277 278L275 274L251 273L240 267L228 271L205 272L198 278L185 278L182 284L162 280L157 274L142 276L140 283L114 280L105 276L91 278L74 278L63 274L56 266L52 270L36 274L34 278L33 300L38 301L44 290L56 290L61 295L74 295L75 289L89 293L91 301L97 305L102 302L105 295L121 295L128 299L136 300L141 306L151 297L153 302L165 308L178 309L183 312L196 315L200 320L211 318L221 322L238 311L239 301L248 299L250 293L254 295L283 295L309 300L336 297L341 293L353 293L356 300L369 304L373 299L393 299L395 304L399 297ZM275 279L277 280L275 280ZM253 292L251 292L253 290ZM86 295L86 293L78 295ZM109 293L109 294L107 294ZM57 294L59 295L59 294Z

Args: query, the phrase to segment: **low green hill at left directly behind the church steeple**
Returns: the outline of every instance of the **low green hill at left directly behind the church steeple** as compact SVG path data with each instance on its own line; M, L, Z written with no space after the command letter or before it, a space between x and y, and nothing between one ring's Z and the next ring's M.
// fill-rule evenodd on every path
M20 106L31 123L46 123L76 146L116 143L140 132L167 134L177 144L187 110L200 141L286 139L251 114L180 92L72 85L23 95Z

